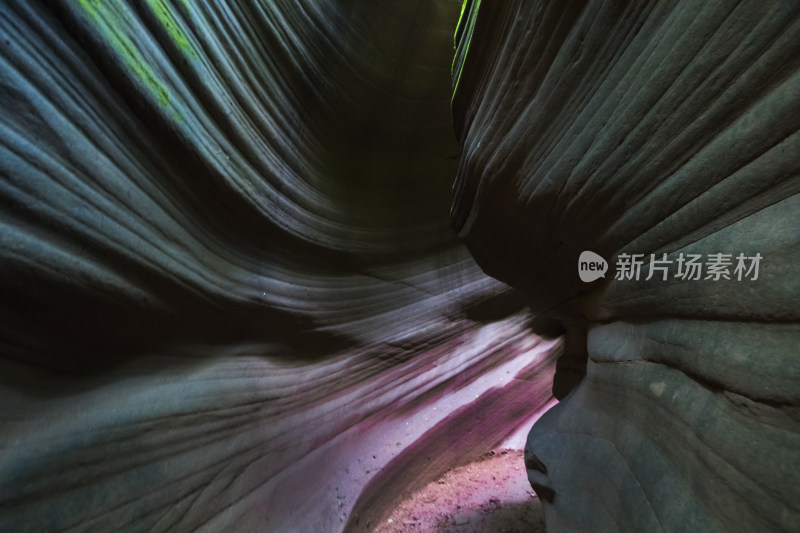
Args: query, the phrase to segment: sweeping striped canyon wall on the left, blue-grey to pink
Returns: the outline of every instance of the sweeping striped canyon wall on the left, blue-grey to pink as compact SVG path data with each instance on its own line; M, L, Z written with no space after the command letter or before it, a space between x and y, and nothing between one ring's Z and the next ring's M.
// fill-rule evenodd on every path
M449 228L459 8L0 3L0 530L364 529L530 423L558 344Z

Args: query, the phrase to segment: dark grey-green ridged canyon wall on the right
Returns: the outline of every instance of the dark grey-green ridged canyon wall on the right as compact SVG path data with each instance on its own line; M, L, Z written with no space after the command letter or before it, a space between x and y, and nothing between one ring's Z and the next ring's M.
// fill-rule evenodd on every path
M454 226L568 328L527 447L548 530L798 531L800 5L475 1L458 39Z

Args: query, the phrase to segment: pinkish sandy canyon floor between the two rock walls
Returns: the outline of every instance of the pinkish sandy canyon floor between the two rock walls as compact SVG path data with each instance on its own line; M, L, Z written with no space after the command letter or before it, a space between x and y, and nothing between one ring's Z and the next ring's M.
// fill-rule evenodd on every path
M495 450L412 494L375 533L540 533L522 450Z

